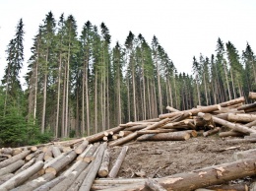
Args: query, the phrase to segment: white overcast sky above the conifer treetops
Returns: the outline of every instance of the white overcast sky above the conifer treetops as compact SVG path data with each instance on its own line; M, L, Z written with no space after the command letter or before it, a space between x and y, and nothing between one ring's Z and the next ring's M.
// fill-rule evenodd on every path
M113 44L123 44L129 31L142 33L149 43L155 34L178 72L191 74L193 56L210 57L218 37L230 40L239 53L248 41L256 53L255 0L0 0L0 79L19 20L23 18L26 32L23 76L32 38L49 11L56 21L62 13L72 14L79 34L87 21L96 26L104 22Z

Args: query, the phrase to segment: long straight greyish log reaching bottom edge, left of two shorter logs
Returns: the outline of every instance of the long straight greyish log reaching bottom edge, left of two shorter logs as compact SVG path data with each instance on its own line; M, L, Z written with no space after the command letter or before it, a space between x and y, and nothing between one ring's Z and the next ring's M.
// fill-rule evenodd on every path
M93 185L93 182L96 179L96 173L100 166L100 163L103 158L103 154L104 154L106 147L107 147L106 143L103 143L99 146L98 153L96 155L96 159L93 161L92 167L79 189L80 191L90 191L90 189Z

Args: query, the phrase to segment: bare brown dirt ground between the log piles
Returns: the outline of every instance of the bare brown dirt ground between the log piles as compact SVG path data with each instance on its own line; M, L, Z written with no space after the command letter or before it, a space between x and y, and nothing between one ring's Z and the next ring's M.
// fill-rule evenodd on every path
M131 142L126 145L129 149L117 177L163 177L233 161L233 153L256 149L253 143L226 144L218 136L201 136L187 141ZM121 148L110 149L110 168Z

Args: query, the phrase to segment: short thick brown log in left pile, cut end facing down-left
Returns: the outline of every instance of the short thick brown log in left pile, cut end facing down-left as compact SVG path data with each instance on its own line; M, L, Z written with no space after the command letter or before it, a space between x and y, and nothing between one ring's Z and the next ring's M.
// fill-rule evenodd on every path
M54 163L46 167L45 173L53 173L56 175L61 169L63 169L67 164L69 164L73 159L77 157L75 151L71 151L64 158L56 160Z

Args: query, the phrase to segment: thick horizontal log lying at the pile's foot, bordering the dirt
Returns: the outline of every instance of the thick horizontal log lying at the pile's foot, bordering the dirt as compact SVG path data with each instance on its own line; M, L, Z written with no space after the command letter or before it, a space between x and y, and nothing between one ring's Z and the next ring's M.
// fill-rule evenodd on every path
M190 138L190 133L177 131L172 133L148 134L143 135L137 141L186 141Z

